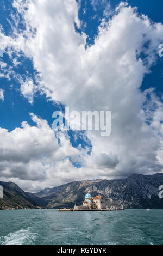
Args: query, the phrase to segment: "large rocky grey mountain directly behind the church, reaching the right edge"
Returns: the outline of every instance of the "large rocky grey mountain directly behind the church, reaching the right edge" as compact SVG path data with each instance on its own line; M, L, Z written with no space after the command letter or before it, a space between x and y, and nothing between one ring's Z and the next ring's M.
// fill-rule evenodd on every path
M163 199L158 197L159 186L163 185L163 174L133 174L127 179L75 181L54 188L46 188L35 195L47 202L48 208L72 207L77 195L77 205L81 205L85 193L92 196L101 194L108 206L125 208L163 209Z

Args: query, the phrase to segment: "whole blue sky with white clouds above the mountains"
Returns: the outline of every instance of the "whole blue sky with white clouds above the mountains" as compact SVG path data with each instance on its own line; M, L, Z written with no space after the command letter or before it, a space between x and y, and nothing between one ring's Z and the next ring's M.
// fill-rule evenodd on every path
M163 172L162 7L1 0L1 181L37 192ZM111 135L54 131L52 114L65 106L111 111Z

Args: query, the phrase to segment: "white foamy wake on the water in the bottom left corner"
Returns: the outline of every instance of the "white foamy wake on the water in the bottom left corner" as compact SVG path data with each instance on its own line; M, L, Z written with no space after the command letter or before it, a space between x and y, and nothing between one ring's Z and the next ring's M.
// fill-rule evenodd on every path
M29 229L21 229L6 236L0 237L1 245L31 245L36 237L36 233Z

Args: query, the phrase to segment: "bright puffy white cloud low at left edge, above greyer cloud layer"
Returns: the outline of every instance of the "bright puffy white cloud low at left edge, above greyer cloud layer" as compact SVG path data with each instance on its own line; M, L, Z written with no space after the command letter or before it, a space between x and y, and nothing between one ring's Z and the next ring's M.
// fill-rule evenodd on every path
M57 150L57 139L53 130L49 129L47 121L38 119L33 114L32 119L37 127L29 126L24 121L21 128L11 132L1 128L1 161L28 163L30 159L40 159L43 154L48 156Z

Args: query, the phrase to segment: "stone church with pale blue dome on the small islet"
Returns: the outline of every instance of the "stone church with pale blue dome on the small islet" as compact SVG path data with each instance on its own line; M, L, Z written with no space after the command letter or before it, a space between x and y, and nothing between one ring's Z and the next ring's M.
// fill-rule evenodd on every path
M74 206L74 210L102 210L106 209L105 200L102 196L98 195L97 197L91 197L91 191L89 190L88 193L85 195L85 200L83 205L81 206Z

